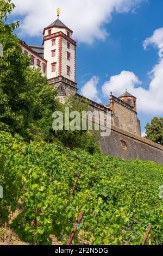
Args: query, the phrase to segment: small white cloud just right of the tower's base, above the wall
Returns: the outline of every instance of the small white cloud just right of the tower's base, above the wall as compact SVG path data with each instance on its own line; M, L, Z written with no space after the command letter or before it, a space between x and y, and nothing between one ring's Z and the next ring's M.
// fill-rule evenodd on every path
M81 89L81 94L87 97L90 100L96 101L98 103L101 102L101 99L98 97L97 84L99 82L99 78L97 76L93 76L90 81L88 81Z

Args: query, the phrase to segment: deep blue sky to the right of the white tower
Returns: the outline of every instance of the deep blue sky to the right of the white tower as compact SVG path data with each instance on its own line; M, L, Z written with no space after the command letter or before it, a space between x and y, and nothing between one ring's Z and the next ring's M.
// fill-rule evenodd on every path
M104 42L97 41L89 47L83 44L78 45L78 87L80 88L88 77L96 75L100 77L98 88L101 90L102 84L106 81L106 75L110 77L119 74L122 70L129 70L133 71L142 81L143 87L147 88L149 86L147 74L158 61L158 52L153 47L144 51L142 42L152 35L155 29L163 26L162 10L162 0L142 3L141 8L136 10L136 14L114 15L112 22L105 26L110 32L110 37ZM107 98L102 97L102 99L105 104L108 103ZM155 116L153 113L139 113L142 131L153 116Z

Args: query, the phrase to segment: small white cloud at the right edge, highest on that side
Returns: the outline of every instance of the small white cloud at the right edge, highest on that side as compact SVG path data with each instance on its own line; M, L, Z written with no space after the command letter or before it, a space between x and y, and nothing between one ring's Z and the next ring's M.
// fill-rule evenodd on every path
M153 45L155 47L161 48L161 44L163 44L163 28L158 28L153 32L153 35L149 38L146 38L143 41L143 47L146 50L148 45Z

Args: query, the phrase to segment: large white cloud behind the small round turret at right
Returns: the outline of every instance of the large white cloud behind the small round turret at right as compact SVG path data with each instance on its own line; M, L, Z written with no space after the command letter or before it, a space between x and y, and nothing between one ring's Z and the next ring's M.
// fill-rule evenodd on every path
M115 96L120 96L128 90L129 93L137 97L137 109L146 114L163 114L163 59L159 60L149 74L151 83L149 88L141 86L139 78L133 72L122 71L121 74L112 76L108 82L102 86L104 96L110 95L112 91Z

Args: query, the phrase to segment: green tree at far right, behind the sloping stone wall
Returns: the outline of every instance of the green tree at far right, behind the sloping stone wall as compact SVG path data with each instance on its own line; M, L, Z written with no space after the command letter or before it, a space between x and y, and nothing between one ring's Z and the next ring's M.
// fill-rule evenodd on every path
M163 118L154 117L151 124L146 125L146 138L163 145Z

